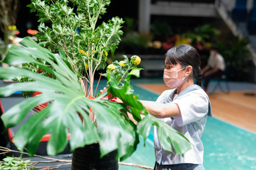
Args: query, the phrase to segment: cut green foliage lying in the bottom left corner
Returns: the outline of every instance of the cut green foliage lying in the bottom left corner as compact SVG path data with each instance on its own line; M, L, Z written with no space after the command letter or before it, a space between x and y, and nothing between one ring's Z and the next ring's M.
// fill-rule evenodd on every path
M3 158L3 162L0 162L0 170L34 170L35 167L31 167L30 160L23 161L16 157Z

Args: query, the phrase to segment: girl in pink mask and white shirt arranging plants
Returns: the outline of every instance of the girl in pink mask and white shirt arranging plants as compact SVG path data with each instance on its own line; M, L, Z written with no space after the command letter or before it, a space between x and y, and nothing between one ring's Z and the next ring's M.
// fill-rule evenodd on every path
M212 116L207 94L201 89L200 56L189 45L175 46L165 54L163 79L171 89L157 101L141 101L151 115L160 118L182 133L195 147L184 156L171 153L160 145L157 127L154 129L156 164L154 170L204 170L204 147L200 140L207 116ZM197 77L199 86L194 84Z

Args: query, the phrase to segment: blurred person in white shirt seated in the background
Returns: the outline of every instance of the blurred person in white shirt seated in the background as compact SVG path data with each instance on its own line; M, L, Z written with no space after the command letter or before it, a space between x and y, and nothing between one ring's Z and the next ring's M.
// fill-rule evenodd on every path
M225 61L222 55L218 53L218 47L212 46L210 57L207 65L202 69L204 78L204 91L207 92L207 87L211 79L223 75L225 70Z

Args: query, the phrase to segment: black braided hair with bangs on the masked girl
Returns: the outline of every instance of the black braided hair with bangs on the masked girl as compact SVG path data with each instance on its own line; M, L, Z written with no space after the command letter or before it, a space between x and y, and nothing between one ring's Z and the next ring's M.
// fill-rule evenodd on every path
M181 44L169 49L164 55L165 64L177 65L178 63L182 68L192 66L192 74L198 78L198 85L201 86L203 79L202 71L200 68L201 59L198 51L189 45Z

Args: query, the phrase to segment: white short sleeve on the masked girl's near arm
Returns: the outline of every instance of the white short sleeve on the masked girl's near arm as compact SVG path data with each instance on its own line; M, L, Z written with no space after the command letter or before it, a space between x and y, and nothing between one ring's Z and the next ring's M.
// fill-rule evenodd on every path
M209 100L206 95L192 93L183 98L177 98L181 116L174 117L179 127L206 118L209 112Z

